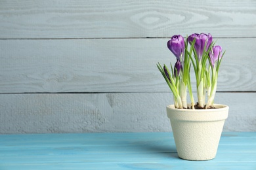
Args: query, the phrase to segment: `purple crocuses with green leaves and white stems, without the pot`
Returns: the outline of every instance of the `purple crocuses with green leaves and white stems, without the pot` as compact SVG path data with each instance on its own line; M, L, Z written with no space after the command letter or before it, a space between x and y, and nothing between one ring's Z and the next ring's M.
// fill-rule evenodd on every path
M181 35L173 35L167 42L167 47L177 59L174 67L171 65L170 71L167 65L162 67L158 63L157 66L173 92L175 108L213 108L219 66L224 56L221 46L215 46L210 33L194 33L186 37L186 40ZM197 104L194 102L190 81L191 65L196 75ZM191 107L187 104L187 91L190 95Z

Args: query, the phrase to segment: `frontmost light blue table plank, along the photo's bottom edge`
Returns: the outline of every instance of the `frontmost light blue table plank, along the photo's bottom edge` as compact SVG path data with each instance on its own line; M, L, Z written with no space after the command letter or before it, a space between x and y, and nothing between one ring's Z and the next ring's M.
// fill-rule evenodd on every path
M182 168L184 169L202 169L205 167L207 169L215 170L215 169L247 169L247 170L254 170L255 162L243 162L243 161L236 161L236 162L211 162L211 161L203 161L194 162L193 163L174 163L172 161L166 162L142 162L142 163L37 163L37 164L18 164L18 163L3 163L1 165L3 169L12 170L12 169L20 169L20 170L29 170L29 169L173 169L179 170Z

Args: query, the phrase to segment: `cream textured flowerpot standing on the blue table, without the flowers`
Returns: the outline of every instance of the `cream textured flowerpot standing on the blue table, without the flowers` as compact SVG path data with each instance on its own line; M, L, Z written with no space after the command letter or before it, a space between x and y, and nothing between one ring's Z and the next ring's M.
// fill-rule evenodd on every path
M216 109L175 109L167 106L173 137L179 158L184 160L211 160L215 158L228 106L214 105Z

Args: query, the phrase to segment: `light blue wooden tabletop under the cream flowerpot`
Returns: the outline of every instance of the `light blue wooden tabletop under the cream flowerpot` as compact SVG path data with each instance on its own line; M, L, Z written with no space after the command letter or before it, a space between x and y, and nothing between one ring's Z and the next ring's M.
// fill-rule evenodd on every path
M209 161L178 158L172 133L0 135L0 169L256 169L256 132L223 133Z

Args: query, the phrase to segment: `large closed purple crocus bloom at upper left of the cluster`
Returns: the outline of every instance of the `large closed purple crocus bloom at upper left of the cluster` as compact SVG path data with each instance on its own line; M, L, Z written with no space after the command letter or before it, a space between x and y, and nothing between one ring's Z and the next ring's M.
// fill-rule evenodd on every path
M167 42L167 47L178 60L183 59L185 42L181 35L173 35L171 40Z

